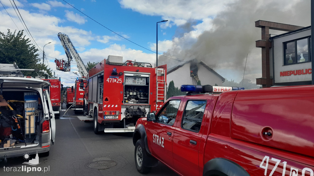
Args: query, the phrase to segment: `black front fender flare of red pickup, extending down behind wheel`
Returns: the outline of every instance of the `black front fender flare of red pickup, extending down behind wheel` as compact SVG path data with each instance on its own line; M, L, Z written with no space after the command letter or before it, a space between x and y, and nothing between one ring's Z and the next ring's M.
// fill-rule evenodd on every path
M145 128L142 124L138 124L134 130L133 133L133 145L136 145L136 142L138 139L142 139L144 144L144 150L143 155L147 158L146 162L143 163L145 167L155 167L158 164L158 160L152 156L148 149L148 143L147 143L147 135Z

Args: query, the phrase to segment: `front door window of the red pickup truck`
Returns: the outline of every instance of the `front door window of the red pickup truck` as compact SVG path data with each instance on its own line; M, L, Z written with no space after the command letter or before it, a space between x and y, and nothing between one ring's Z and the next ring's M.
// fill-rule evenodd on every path
M168 101L167 104L162 107L160 113L157 114L157 122L173 125L176 120L180 102L181 100Z

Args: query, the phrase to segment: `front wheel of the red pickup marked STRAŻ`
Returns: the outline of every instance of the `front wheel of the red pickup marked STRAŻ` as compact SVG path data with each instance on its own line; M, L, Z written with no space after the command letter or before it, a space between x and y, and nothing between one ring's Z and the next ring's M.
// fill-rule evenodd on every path
M142 139L138 139L138 141L135 144L135 150L134 150L134 159L135 159L135 165L136 169L139 173L149 173L151 168L145 167L143 163L146 161L146 154L144 151L144 144L142 142Z

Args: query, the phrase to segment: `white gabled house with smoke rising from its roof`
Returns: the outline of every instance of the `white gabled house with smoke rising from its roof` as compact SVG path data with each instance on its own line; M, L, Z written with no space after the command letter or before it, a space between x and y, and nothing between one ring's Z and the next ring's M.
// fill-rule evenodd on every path
M202 85L221 85L225 78L211 69L203 61L189 61L167 69L167 85L174 82L175 87L181 85L197 85L200 80Z

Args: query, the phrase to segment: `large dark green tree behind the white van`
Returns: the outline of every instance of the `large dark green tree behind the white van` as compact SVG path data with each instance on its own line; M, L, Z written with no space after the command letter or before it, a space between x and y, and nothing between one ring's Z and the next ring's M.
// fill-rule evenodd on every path
M12 34L10 29L8 33L0 32L0 63L13 64L15 62L20 69L37 69L46 70L51 75L51 70L46 65L40 64L38 49L33 44L30 44L30 39L23 36L23 30ZM34 71L22 71L26 76L37 76Z

